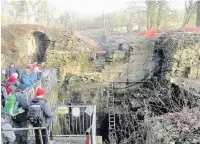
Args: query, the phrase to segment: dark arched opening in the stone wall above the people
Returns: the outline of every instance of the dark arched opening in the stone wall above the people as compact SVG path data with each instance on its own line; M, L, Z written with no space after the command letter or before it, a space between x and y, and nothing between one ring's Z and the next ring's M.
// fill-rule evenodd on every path
M46 58L46 50L49 47L51 41L45 33L42 32L34 32L36 43L36 57L35 60L40 62L44 62Z

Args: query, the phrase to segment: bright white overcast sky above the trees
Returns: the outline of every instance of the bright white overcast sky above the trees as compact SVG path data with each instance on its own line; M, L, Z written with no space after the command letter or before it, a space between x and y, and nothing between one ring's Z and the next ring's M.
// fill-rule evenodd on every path
M49 0L56 15L64 11L76 12L85 16L95 16L107 12L123 10L131 0ZM132 0L133 1L133 0ZM134 0L136 1L136 0ZM141 1L141 0L140 0ZM184 0L168 0L174 9L184 9Z

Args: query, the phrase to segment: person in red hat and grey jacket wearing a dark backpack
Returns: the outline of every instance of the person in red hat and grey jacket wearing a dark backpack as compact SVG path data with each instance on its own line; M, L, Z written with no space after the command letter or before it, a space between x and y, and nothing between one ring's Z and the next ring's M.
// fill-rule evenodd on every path
M42 88L37 88L35 98L30 102L29 105L29 112L31 113L31 109L35 108L35 105L39 105L41 108L41 111L43 112L43 118L41 118L41 121L36 120L34 122L31 122L33 127L47 127L49 128L51 124L51 120L53 117L53 113L51 110L50 105L44 98L45 91ZM35 111L35 110L34 110ZM48 132L43 129L42 131L42 139L44 144L48 144ZM35 130L35 138L36 138L36 144L40 144L40 137L39 137L39 131Z

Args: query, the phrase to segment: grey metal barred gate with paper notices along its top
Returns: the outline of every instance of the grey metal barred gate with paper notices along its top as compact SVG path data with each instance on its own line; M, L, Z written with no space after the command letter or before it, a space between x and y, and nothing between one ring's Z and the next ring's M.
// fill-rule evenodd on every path
M90 137L96 144L96 106L64 105L54 107L54 137Z

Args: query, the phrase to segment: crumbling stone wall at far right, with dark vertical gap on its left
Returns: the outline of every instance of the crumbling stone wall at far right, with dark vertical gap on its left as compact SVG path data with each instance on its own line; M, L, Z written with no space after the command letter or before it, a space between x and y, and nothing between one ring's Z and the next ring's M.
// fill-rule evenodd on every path
M155 66L163 78L200 78L200 34L170 33L155 40Z

